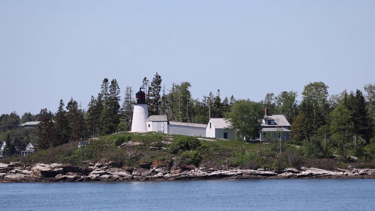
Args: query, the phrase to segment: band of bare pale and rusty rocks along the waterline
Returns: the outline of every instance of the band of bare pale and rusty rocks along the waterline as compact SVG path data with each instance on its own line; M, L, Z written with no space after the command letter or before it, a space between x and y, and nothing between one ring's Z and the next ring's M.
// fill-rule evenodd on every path
M289 178L375 178L375 169L335 169L301 167L281 172L264 169L219 170L207 167L171 168L168 163L154 161L136 168L121 168L116 162L89 163L89 167L64 164L21 162L0 163L0 182L80 182L80 181L144 181L186 179L289 179Z

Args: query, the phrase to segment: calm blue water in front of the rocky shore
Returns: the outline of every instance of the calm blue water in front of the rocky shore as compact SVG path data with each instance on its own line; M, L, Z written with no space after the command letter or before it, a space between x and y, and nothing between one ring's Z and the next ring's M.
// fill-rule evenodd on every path
M3 183L0 210L375 210L375 179Z

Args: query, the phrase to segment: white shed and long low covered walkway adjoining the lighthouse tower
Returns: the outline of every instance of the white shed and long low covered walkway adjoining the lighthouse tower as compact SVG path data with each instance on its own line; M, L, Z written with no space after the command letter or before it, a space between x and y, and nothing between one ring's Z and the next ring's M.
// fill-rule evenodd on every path
M184 136L206 136L206 124L168 121L166 115L152 115L146 121L147 131L179 134Z

